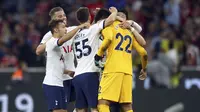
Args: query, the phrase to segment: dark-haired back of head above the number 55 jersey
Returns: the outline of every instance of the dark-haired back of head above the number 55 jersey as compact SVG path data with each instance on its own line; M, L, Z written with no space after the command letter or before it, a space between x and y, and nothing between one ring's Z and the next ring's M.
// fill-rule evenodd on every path
M87 7L80 7L76 11L76 18L79 23L85 23L89 19L89 9Z

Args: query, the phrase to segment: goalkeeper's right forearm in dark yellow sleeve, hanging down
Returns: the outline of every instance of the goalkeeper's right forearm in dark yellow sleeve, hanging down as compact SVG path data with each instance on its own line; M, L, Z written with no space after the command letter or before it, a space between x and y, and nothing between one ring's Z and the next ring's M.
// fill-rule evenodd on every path
M133 39L133 47L135 48L135 50L138 52L138 54L141 57L142 69L146 71L146 67L148 63L147 51L142 46L140 46L135 39Z

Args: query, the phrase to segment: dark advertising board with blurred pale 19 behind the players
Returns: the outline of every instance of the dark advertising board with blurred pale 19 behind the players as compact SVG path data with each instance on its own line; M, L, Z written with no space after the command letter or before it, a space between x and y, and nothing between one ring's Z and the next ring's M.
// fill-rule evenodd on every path
M199 72L187 71L183 74L184 77L176 89L145 89L144 82L136 80L133 90L135 112L164 112L177 103L181 103L184 107L184 111L181 112L200 112L200 88L195 84L191 89L186 89L184 86L187 79L198 79L200 83ZM30 112L47 112L42 90L44 73L26 74L26 80L18 83L11 81L11 73L0 73L0 76L0 99L2 95L8 96L8 110L5 112L29 112L16 108L15 100L22 94L28 94L32 98L34 106L33 111ZM26 105L27 102L22 100L22 104ZM69 106L70 110L72 108ZM0 100L0 109L2 109L2 100Z

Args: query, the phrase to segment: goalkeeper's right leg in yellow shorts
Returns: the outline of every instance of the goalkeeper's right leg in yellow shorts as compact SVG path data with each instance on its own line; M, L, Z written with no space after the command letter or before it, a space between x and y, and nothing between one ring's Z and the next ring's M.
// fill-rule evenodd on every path
M132 109L132 75L124 74L119 102L124 112Z

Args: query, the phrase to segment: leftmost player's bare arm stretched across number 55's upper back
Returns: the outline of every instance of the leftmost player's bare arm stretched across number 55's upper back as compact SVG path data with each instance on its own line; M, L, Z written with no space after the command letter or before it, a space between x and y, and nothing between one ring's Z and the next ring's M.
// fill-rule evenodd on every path
M70 31L69 33L67 33L66 35L64 35L62 38L60 38L58 41L57 41L57 44L59 46L61 46L63 43L65 43L66 41L70 40L75 34L76 32L81 29L81 28L88 28L89 27L89 23L84 23L84 24L81 24L79 26L77 26L75 29L73 29L72 31Z

